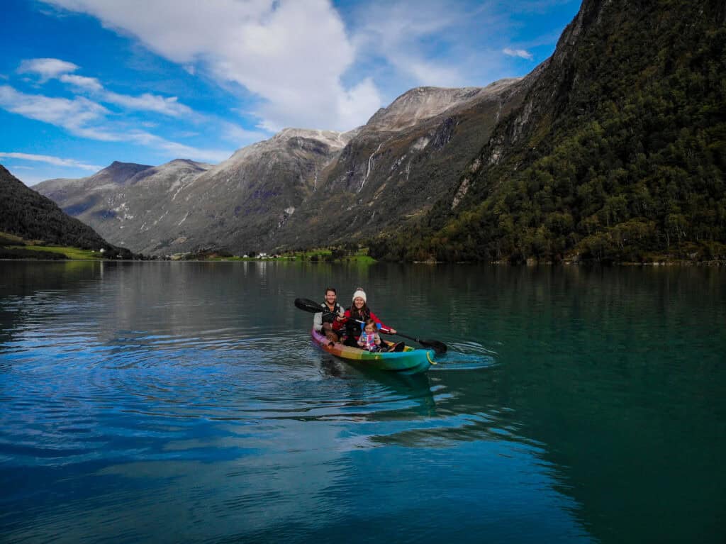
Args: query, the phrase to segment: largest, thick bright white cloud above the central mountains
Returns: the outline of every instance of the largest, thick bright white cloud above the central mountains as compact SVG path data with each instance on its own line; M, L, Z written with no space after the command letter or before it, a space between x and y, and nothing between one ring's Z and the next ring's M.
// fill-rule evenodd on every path
M381 105L372 79L342 83L355 50L329 0L46 1L136 36L187 70L244 86L261 97L253 113L269 130L347 130Z

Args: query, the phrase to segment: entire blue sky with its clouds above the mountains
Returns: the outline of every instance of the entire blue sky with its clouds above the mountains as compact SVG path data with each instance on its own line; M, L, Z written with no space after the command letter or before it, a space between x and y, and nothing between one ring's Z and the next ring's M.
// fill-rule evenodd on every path
M579 5L4 0L0 163L32 185L354 129L412 87L524 76Z

